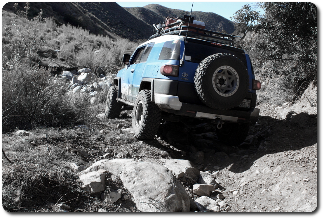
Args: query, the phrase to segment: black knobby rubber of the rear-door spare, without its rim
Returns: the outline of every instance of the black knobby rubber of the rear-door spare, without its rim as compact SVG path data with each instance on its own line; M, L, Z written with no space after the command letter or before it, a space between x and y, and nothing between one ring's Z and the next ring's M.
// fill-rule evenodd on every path
M238 90L231 96L220 96L213 87L213 74L220 66L233 67L239 77ZM226 110L237 106L246 97L249 89L247 68L236 56L217 53L205 58L197 67L194 77L195 89L199 99L213 109Z

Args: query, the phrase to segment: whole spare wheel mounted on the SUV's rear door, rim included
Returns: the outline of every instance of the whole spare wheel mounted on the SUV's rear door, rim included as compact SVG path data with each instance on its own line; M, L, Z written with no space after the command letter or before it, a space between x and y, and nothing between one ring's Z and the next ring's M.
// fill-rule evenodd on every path
M197 67L195 88L204 104L214 109L231 109L246 97L249 89L247 68L236 56L217 53Z

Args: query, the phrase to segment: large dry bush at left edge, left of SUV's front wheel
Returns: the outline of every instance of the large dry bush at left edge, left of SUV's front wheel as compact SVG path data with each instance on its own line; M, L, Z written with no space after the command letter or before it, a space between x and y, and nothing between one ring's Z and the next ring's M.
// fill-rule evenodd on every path
M23 64L4 69L2 77L4 129L58 126L89 115L87 97L67 93L67 82L53 82L50 69Z

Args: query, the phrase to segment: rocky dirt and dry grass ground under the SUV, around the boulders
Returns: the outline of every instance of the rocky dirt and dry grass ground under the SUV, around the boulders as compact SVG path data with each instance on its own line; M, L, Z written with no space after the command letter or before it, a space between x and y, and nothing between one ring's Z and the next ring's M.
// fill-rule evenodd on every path
M51 171L62 172L64 167L75 172L78 176L72 174L73 179L68 182L72 183L75 190L82 186L78 181L78 177L80 180L82 178L78 172L100 160L128 158L155 164L163 163L163 159L189 160L201 172L210 173L209 175L217 182L218 188L214 189L210 198L218 203L219 208L216 209L218 212L312 212L318 204L318 117L317 104L314 106L309 101L315 96L308 94L315 93L314 89L317 87L310 87L307 95L304 94L296 103L287 102L279 106L271 103L260 104L258 106L261 109L260 118L257 124L250 128L246 141L237 147L218 141L215 135L216 127L206 123L166 123L160 126L155 139L137 140L133 138L131 111L129 111L121 118L113 120L99 114L98 123L93 126L86 124L74 127L73 130L65 132L59 130L59 133L48 134L52 136L35 137L40 135L37 133L39 130L31 131L33 134L30 136L5 134L3 149L14 163L8 166L13 165L10 168L15 169L18 163L20 165L30 161L26 157L25 161L18 157L18 153L24 152L22 149L18 150L19 152L17 149L16 152L13 150L13 145L17 142L20 142L19 144L25 142L24 145L28 145L29 151L42 152L43 155L38 154L38 158L47 156ZM22 147L24 145L22 144ZM66 162L58 164L58 161L51 158L56 149L62 150L64 156L71 156L71 160L76 159L74 164L70 163L70 166ZM76 158L72 158L75 156ZM44 165L41 161L33 162L37 166ZM6 169L8 166L5 166L5 169L3 166L3 177L8 177L4 175L6 171L10 171ZM104 197L100 199L82 195L81 198L80 196L76 198L71 193L65 198L79 199L79 202L67 201L65 202L68 204L67 209L62 210L61 207L61 210L137 212L132 194L123 186L121 179L107 172L105 176L107 189L116 194L119 191L120 194L117 194L119 198L116 199L118 201L107 207L102 204L105 201ZM201 199L193 190L197 182L185 178L179 182L193 200ZM63 198L59 197L57 200L49 197L46 206L59 203ZM95 199L91 203L97 203L96 206L82 207L80 203L87 199ZM27 203L24 201L27 200L19 201L20 205ZM41 211L49 209L56 211L55 207L42 206L41 209ZM56 209L59 207L56 206ZM191 212L193 211L200 209L191 208Z

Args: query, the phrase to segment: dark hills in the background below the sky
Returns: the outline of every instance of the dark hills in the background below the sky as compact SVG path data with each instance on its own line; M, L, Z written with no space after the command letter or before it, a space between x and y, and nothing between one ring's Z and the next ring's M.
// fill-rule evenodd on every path
M28 18L37 16L40 9L44 17L52 17L58 25L71 24L89 30L93 34L102 34L116 39L131 41L146 40L153 34L154 23L163 22L166 17L182 17L190 12L171 9L157 4L145 7L121 7L115 2L30 2ZM14 2L6 3L3 10L14 12ZM23 10L25 2L18 3ZM228 33L234 31L233 22L214 13L192 12L196 20L204 21L206 29L217 31L222 28ZM222 30L220 28L219 30Z

